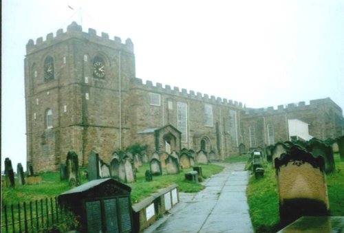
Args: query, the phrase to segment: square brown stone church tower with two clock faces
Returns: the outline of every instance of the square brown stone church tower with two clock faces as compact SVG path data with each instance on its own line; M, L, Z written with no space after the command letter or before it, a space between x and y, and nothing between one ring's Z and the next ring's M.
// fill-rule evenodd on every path
M96 149L114 151L129 137L133 43L75 22L67 32L30 40L25 57L27 156L37 171L57 170L68 151L80 165ZM100 146L101 145L101 146Z

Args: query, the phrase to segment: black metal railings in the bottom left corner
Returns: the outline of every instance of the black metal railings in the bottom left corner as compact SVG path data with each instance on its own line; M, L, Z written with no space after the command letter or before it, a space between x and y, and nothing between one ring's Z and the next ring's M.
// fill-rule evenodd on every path
M3 206L1 232L41 232L65 218L65 209L57 198Z

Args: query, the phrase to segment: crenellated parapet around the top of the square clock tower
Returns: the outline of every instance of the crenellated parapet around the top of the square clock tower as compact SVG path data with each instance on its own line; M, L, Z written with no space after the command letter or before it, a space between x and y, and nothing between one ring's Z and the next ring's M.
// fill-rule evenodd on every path
M133 43L130 38L127 38L125 43L122 43L122 40L118 36L114 36L114 39L109 38L109 34L102 32L100 36L97 35L96 30L89 28L88 32L83 32L83 28L78 25L76 22L72 22L67 26L67 32L63 32L63 29L56 31L56 36L53 33L47 34L45 40L43 37L34 40L30 39L26 44L26 53L31 54L37 52L41 49L45 49L61 41L66 41L70 38L77 38L80 40L87 40L89 42L105 45L112 47L114 49L121 49L125 52L133 53Z

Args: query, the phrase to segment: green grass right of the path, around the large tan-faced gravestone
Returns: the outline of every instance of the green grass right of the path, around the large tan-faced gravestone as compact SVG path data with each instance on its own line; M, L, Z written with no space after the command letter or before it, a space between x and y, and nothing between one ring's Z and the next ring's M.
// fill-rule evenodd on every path
M336 171L326 175L327 192L330 201L330 215L344 216L344 162L338 153L334 154ZM264 178L252 175L246 190L250 217L255 232L277 232L279 226L279 200L275 168L264 164Z

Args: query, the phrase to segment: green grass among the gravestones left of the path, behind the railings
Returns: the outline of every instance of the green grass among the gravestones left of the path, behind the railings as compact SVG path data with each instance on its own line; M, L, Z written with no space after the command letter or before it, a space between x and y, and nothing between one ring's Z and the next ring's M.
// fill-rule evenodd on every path
M85 168L80 168L80 174L83 174ZM144 177L146 170L149 170L149 165L144 164L140 167L136 174L136 182L127 184L131 186L131 201L136 203L149 194L155 192L160 188L167 187L171 184L178 184L181 192L198 192L204 187L201 184L195 184L190 181L184 180L184 173L192 170L192 168L181 170L178 175L166 175L166 171L163 170L163 175L153 177L153 181L147 182ZM202 164L202 172L204 178L210 177L215 173L219 173L223 170L222 166L215 164ZM13 188L3 187L2 189L2 204L9 206L11 204L23 203L45 199L47 197L56 197L62 192L69 190L67 181L60 181L60 175L56 173L41 173L42 183L35 185L19 186L17 179L16 186ZM85 184L88 180L81 176L81 184Z

